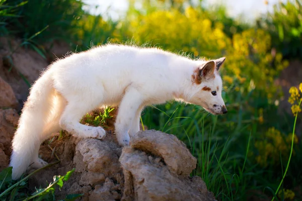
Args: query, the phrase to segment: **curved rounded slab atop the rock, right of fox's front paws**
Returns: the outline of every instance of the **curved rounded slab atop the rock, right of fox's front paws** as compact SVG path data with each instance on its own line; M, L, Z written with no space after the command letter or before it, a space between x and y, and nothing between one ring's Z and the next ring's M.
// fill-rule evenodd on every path
M140 131L131 139L130 146L162 157L170 171L176 174L189 175L196 168L196 158L174 135L155 130Z

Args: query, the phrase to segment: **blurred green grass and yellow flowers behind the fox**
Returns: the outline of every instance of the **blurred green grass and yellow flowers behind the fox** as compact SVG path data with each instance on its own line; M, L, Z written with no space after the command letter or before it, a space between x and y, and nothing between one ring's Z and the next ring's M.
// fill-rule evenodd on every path
M112 19L92 15L88 10L94 8L77 0L0 0L0 35L21 39L24 48L44 58L51 55L45 44L63 43L80 52L92 43L129 40L192 58L225 56L227 115L167 103L143 111L143 124L187 144L198 159L192 174L201 176L218 200L302 200L302 1L272 6L257 0L273 9L249 21L203 1L123 2L128 7Z

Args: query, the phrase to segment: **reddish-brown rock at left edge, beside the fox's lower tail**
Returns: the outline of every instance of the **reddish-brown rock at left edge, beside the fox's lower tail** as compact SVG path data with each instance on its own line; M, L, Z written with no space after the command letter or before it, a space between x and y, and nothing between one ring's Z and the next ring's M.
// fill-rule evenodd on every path
M9 164L11 144L19 115L14 109L0 109L0 171Z

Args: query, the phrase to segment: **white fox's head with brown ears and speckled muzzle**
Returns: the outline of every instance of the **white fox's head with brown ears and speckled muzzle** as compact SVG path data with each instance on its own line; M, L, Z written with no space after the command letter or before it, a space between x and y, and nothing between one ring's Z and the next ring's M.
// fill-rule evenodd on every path
M213 115L228 112L221 96L222 80L218 73L224 60L222 57L203 62L192 74L192 90L187 101L203 107Z

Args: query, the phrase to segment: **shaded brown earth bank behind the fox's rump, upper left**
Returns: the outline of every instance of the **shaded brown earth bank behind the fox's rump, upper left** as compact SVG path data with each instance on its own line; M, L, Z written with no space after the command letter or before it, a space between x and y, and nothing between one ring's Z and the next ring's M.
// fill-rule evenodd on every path
M27 99L30 84L48 66L39 53L20 44L20 40L0 37L0 76L12 87L19 102L18 110Z

